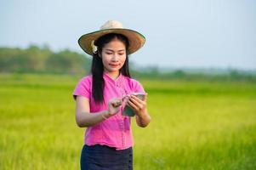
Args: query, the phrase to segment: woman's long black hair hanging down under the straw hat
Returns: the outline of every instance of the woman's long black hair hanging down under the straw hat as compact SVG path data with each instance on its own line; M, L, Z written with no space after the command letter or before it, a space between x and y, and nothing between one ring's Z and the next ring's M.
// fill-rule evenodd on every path
M102 103L104 101L104 87L105 82L103 79L104 65L99 54L102 53L102 48L105 44L111 42L114 38L117 38L119 41L123 42L126 48L126 59L124 65L120 69L120 72L125 77L130 77L129 65L128 65L128 47L129 42L128 38L122 34L110 33L98 38L94 45L97 46L97 53L93 55L93 62L91 67L91 72L93 75L93 97L96 103Z

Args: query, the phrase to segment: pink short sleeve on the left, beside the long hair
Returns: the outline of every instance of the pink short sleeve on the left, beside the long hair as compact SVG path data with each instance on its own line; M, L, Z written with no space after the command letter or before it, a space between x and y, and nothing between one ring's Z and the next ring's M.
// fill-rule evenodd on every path
M73 91L73 98L76 99L78 95L81 95L87 99L91 96L92 77L83 77L78 83L77 87Z

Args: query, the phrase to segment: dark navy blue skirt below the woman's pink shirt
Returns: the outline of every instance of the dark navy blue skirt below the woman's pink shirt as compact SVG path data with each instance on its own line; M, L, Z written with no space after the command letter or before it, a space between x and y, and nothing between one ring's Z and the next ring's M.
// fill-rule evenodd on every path
M132 170L133 149L116 150L106 145L83 145L81 170Z

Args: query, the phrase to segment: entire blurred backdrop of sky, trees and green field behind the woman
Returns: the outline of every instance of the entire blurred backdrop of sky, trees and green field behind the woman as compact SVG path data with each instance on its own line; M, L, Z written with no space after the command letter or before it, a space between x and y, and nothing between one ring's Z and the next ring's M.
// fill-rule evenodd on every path
M253 0L0 1L0 169L78 169L72 91L91 56L77 43L107 20L141 32L132 76L151 125L135 169L256 169ZM151 150L148 150L151 148Z

